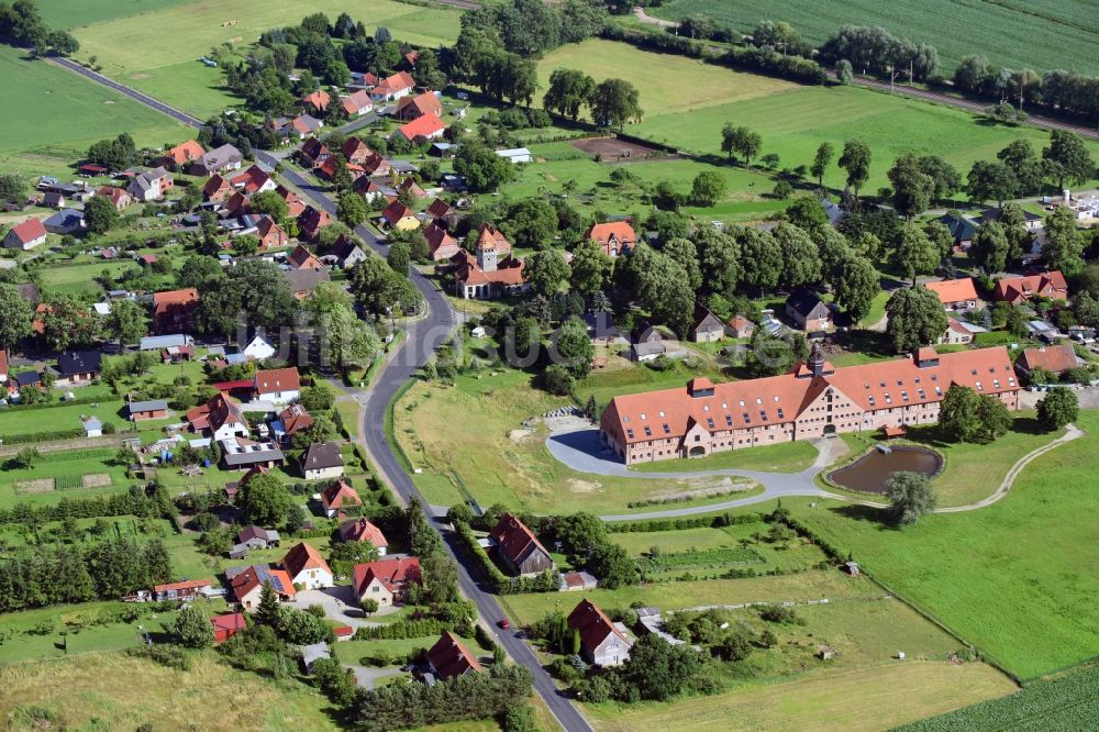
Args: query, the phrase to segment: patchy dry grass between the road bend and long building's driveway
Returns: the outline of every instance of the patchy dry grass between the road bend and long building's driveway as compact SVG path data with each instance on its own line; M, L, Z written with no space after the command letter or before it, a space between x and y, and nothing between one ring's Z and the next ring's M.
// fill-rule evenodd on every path
M522 421L567 402L535 390L530 379L509 369L462 376L455 387L418 382L396 404L395 434L413 468L423 470L412 478L429 502L464 500L458 487L465 486L482 507L499 502L537 512L618 513L631 502L681 498L687 491L709 491L709 498L692 503L701 504L745 490L743 480L724 476L646 480L566 468L546 448L545 426L526 431ZM463 429L454 430L455 424Z

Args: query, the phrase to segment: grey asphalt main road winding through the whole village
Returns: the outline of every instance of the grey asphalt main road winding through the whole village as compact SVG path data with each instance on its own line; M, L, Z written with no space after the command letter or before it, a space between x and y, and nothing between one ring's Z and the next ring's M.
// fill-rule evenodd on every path
M92 81L96 81L97 84L114 89L115 91L125 95L126 97L130 97L146 107L151 107L152 109L155 109L158 112L162 112L163 114L166 114L190 127L199 127L202 125L201 120L198 120L190 114L181 112L147 95L109 79L102 74L97 74L91 69L85 68L84 66L80 66L79 64L76 64L67 58L55 57L51 58L51 60ZM269 153L255 151L255 154L257 160L271 168L279 163L279 159ZM288 166L284 167L282 176L301 190L301 192L304 193L314 206L328 211L331 214L335 214L335 203L317 184L311 182L304 176ZM362 240L366 242L370 248L385 256L386 246L384 242L366 226L357 226L355 229L355 233L358 234L358 236L362 237ZM389 441L386 440L382 425L385 424L385 415L389 408L389 402L396 396L398 389L400 389L406 381L412 378L417 370L428 362L435 350L442 345L442 343L454 330L455 325L457 325L457 315L446 297L435 289L434 285L423 275L413 270L412 282L415 285L417 289L423 293L424 301L428 307L428 313L425 318L409 326L408 336L404 339L404 342L387 362L385 368L371 385L369 396L364 407L365 424L363 435L366 441L367 450L369 450L370 455L374 457L385 478L388 479L393 489L397 490L406 502L412 500L419 501L421 506L423 506L424 511L431 515L431 508L429 503L423 499L423 496L420 495L415 484L412 483L412 479L404 472L400 462L398 462L397 456L393 454L393 451L389 445ZM435 529L443 535L444 545L458 564L458 585L462 587L463 594L477 605L477 611L480 613L480 617L486 623L491 625L496 633L497 641L504 647L508 655L510 655L515 663L530 668L534 674L534 688L542 697L543 701L545 701L553 716L557 719L560 725L569 732L591 730L591 725L588 724L587 720L584 719L573 702L569 701L569 699L554 685L550 674L542 668L542 664L539 663L537 657L534 655L534 652L525 643L525 641L517 637L514 630L503 632L496 625L496 622L504 617L504 612L500 608L500 605L496 601L496 598L486 588L479 586L469 574L465 563L462 561L460 552L456 551L457 547L454 544L454 535L451 532L442 531L439 525L436 525Z

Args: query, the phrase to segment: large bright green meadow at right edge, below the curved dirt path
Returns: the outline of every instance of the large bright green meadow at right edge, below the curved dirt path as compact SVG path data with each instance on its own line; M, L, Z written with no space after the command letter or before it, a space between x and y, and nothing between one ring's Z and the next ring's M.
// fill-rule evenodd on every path
M1086 466L1099 446L1099 414L1080 413L1087 435L1042 455L1001 501L976 511L925 517L897 531L874 509L832 501L795 517L875 577L915 602L988 658L1022 679L1070 666L1099 646L1091 598L1099 589L1094 528L1099 506Z

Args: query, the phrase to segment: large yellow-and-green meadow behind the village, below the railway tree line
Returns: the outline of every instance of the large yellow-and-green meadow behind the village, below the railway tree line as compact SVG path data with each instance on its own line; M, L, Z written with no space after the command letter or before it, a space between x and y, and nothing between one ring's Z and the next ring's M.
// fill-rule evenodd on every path
M761 154L778 154L780 167L809 165L822 142L833 144L837 159L844 141L863 140L873 153L866 192L888 185L886 171L907 152L941 155L965 176L975 160L995 158L1015 138L1041 148L1048 137L1031 127L978 124L973 114L923 101L857 87L799 86L602 40L547 54L539 64L540 76L548 78L555 68L633 82L641 92L644 120L626 125L626 132L692 154L723 157L721 129L726 122L759 132ZM663 82L654 82L653 74ZM698 75L726 79L718 85L722 92L709 93L696 81ZM1092 151L1099 152L1099 145ZM844 173L833 164L824 184L842 189Z

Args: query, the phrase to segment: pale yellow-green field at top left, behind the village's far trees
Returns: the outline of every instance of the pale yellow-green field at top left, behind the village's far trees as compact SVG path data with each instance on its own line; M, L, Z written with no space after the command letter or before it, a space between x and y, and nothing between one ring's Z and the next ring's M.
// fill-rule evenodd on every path
M163 7L158 7L163 5ZM103 73L174 107L207 117L237 99L223 86L223 73L198 59L214 46L246 47L273 27L297 25L310 13L335 20L347 12L371 33L388 27L400 41L426 46L453 43L459 11L422 8L392 0L292 0L234 3L217 0L165 2L148 12L104 20L76 29L78 57L96 56Z

